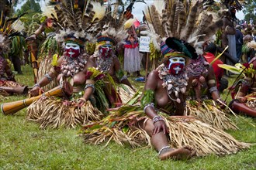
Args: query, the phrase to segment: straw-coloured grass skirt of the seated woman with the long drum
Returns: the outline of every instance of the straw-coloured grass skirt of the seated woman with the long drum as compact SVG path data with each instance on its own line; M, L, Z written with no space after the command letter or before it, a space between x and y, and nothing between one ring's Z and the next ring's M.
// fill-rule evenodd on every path
M40 128L75 128L77 125L100 121L102 112L90 101L78 107L75 101L57 97L42 97L28 107L27 119L36 121Z

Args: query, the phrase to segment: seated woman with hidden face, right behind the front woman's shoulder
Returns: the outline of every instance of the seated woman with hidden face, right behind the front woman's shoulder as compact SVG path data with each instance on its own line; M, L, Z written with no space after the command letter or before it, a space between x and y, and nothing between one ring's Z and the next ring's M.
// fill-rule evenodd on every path
M198 57L192 59L187 68L191 83L187 97L187 114L195 115L201 121L217 128L236 129L236 125L227 117L227 111L224 110L224 102L217 88L219 81L216 80L213 66L204 58L200 44L196 44L195 49ZM209 46L206 49L209 50ZM209 56L209 53L206 54Z

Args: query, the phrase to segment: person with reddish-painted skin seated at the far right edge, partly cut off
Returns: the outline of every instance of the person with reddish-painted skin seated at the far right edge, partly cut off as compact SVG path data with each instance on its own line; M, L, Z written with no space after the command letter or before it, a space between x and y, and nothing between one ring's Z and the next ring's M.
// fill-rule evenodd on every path
M229 107L237 114L256 117L256 57L251 59L244 72L247 70L251 73L244 74L244 80Z

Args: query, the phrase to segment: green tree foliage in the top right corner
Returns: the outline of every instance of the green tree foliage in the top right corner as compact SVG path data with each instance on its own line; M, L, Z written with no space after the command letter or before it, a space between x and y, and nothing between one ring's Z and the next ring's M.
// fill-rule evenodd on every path
M247 23L252 22L256 24L256 0L248 0L247 4L244 5L244 20Z

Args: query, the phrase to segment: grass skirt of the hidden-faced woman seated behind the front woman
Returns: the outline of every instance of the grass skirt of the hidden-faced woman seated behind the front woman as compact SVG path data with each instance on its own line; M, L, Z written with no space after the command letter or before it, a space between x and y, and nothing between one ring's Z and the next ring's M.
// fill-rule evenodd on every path
M234 122L230 120L229 115L226 114L229 110L221 109L214 100L204 100L202 104L195 100L187 100L186 112L187 115L195 116L200 121L210 124L215 128L223 130L237 129Z

